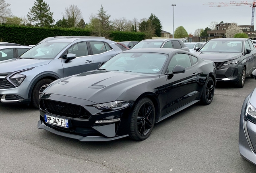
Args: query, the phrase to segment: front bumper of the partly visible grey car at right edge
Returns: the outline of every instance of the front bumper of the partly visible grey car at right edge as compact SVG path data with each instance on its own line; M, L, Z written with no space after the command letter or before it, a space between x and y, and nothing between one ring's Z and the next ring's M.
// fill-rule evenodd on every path
M256 165L256 124L244 118L247 103L252 93L245 99L239 122L239 152L240 155Z

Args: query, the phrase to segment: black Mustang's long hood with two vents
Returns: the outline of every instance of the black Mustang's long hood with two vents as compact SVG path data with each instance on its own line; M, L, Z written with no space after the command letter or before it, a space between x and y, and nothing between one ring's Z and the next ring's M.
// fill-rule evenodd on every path
M44 93L85 99L94 103L116 101L128 89L159 78L159 74L93 70L57 80Z

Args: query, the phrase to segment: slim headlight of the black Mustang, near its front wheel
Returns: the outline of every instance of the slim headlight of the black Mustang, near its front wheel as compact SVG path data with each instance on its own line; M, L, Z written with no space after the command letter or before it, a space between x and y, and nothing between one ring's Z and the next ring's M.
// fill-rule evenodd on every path
M93 105L95 108L99 110L118 110L122 108L126 108L130 103L125 101L113 101L109 103L102 103L98 105Z

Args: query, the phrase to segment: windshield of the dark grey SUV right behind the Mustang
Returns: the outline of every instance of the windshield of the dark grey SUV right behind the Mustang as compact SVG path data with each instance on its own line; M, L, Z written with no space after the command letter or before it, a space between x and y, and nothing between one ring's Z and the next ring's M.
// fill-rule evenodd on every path
M242 41L210 40L200 52L242 52Z

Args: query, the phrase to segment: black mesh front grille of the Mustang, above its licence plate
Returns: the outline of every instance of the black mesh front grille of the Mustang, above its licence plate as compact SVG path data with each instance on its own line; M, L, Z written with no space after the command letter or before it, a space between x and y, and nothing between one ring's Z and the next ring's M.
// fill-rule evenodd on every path
M40 108L48 113L64 117L79 119L89 119L91 117L91 114L79 105L72 105L58 101L41 100Z

